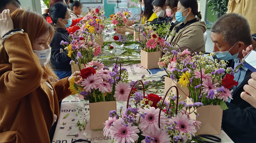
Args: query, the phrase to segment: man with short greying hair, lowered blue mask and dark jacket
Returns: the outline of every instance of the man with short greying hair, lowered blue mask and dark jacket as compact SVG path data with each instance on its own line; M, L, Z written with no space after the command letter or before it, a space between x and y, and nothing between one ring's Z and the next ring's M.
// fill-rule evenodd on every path
M211 28L213 51L220 59L229 60L228 67L234 69L243 57L246 47L256 48L256 41L251 36L250 25L247 19L236 13L228 13L220 17ZM234 80L238 86L233 86L233 100L229 99L226 105L229 109L223 111L222 128L235 143L253 143L256 135L256 109L244 101L240 94L244 85L251 78L251 71L246 67L235 73Z

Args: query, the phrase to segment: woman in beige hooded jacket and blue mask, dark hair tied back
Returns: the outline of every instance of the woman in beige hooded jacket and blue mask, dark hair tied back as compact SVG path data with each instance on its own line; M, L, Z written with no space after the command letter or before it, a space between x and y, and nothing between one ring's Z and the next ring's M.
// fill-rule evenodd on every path
M167 42L175 42L179 46L188 46L195 52L205 52L204 32L206 32L206 23L198 22L196 16L201 19L198 12L197 0L180 0L175 13L176 25ZM171 44L177 49L177 45ZM174 50L174 49L172 49ZM190 50L190 49L188 49Z

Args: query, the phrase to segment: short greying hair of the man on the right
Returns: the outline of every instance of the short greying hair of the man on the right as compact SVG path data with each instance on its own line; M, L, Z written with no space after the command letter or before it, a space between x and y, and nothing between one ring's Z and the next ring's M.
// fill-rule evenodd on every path
M251 45L252 43L249 22L238 13L227 13L221 16L213 24L211 31L222 34L224 42L227 42L230 46L235 45L238 41L245 45Z

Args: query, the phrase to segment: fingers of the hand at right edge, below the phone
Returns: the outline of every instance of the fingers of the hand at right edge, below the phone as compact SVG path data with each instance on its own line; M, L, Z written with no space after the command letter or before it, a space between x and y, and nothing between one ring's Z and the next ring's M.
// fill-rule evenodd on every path
M241 93L241 98L256 108L256 72L251 74L252 79L248 80L248 85L244 86L245 92Z

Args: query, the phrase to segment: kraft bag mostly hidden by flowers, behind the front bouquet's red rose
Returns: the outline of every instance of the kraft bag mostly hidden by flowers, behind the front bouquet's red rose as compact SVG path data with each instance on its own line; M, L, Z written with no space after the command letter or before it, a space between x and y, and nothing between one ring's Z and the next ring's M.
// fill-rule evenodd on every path
M178 93L179 93L179 95L182 96L182 98L179 100L179 102L187 99L187 96L189 96L188 88L187 87L181 87L181 85L177 82L177 79L172 80L171 78L168 78L167 76L165 76L165 93L173 85L177 86ZM176 88L172 88L172 93L174 93L175 95L177 94L176 93Z

